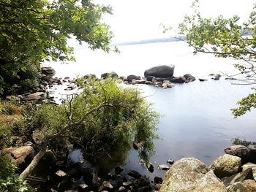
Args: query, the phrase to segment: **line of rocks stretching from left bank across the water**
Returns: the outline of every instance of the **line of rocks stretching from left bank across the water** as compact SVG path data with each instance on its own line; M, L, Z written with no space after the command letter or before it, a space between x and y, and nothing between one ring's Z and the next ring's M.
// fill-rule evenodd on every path
M77 80L70 77L53 77L56 71L48 65L41 66L42 77L39 81L39 85L35 88L31 88L22 95L7 96L7 100L15 99L19 101L37 101L40 103L54 103L55 99L52 96L55 93L54 87L57 85L63 85L64 91L72 91L78 88ZM173 88L176 84L183 84L187 82L193 82L196 80L192 74L184 74L184 76L173 76L174 66L156 66L151 69L147 69L144 72L145 77L140 77L135 74L130 74L127 77L118 76L116 72L106 72L101 74L98 78L95 74L86 74L83 76L84 81L87 80L104 80L107 77L116 78L121 80L127 85L151 85L157 88ZM209 74L210 78L199 78L200 82L207 80L219 80L222 77L220 74ZM234 78L226 77L225 80L235 80Z

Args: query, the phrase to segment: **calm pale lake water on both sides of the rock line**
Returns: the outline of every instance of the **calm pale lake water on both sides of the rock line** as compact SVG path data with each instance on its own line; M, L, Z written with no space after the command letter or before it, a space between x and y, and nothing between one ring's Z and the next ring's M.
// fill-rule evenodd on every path
M174 64L174 75L190 73L196 78L211 73L236 73L233 61L227 58L215 58L213 55L193 55L192 49L184 42L165 42L146 45L128 45L119 47L121 53L103 53L76 47L76 63L51 64L56 69L56 77L76 77L84 74L100 74L114 71L118 75L138 74L162 64ZM234 138L255 140L256 112L252 111L233 118L230 109L236 107L236 101L252 93L249 85L232 85L234 81L208 80L189 82L174 88L162 89L148 85L136 85L143 95L154 103L154 110L162 115L157 134L161 139L155 141L155 155L151 157L154 172L140 165L138 152L130 150L125 161L124 172L135 169L149 177L162 176L165 171L157 170L158 164L166 164L168 158L178 160L183 157L195 157L211 164L225 147L232 145ZM63 93L57 90L56 94ZM72 154L71 154L72 155ZM118 161L118 159L117 159Z

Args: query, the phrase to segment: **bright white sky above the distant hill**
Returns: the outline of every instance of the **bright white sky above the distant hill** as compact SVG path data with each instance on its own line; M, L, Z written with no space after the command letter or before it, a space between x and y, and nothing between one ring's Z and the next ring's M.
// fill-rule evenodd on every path
M160 23L176 28L186 13L192 12L192 0L94 0L98 4L110 4L113 15L106 15L105 23L111 26L114 42L167 37L162 34ZM203 16L239 15L246 20L252 12L255 0L200 0Z

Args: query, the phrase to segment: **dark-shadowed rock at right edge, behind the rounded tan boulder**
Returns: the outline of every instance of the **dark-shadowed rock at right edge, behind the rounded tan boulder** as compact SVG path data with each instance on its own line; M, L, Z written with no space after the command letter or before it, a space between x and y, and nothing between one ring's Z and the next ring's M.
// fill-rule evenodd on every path
M242 164L247 162L256 163L256 150L244 145L233 145L225 148L225 153L238 156L242 159Z

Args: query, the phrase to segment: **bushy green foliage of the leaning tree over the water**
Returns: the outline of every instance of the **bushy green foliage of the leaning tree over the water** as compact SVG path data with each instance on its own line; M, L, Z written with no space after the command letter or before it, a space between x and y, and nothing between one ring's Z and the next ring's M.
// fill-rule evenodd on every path
M91 157L132 140L145 142L148 154L153 150L159 115L139 91L121 88L113 79L80 80L79 85L83 92L78 96L69 97L61 106L42 106L34 116L32 125L39 128L42 137L69 126L63 136L80 142Z

